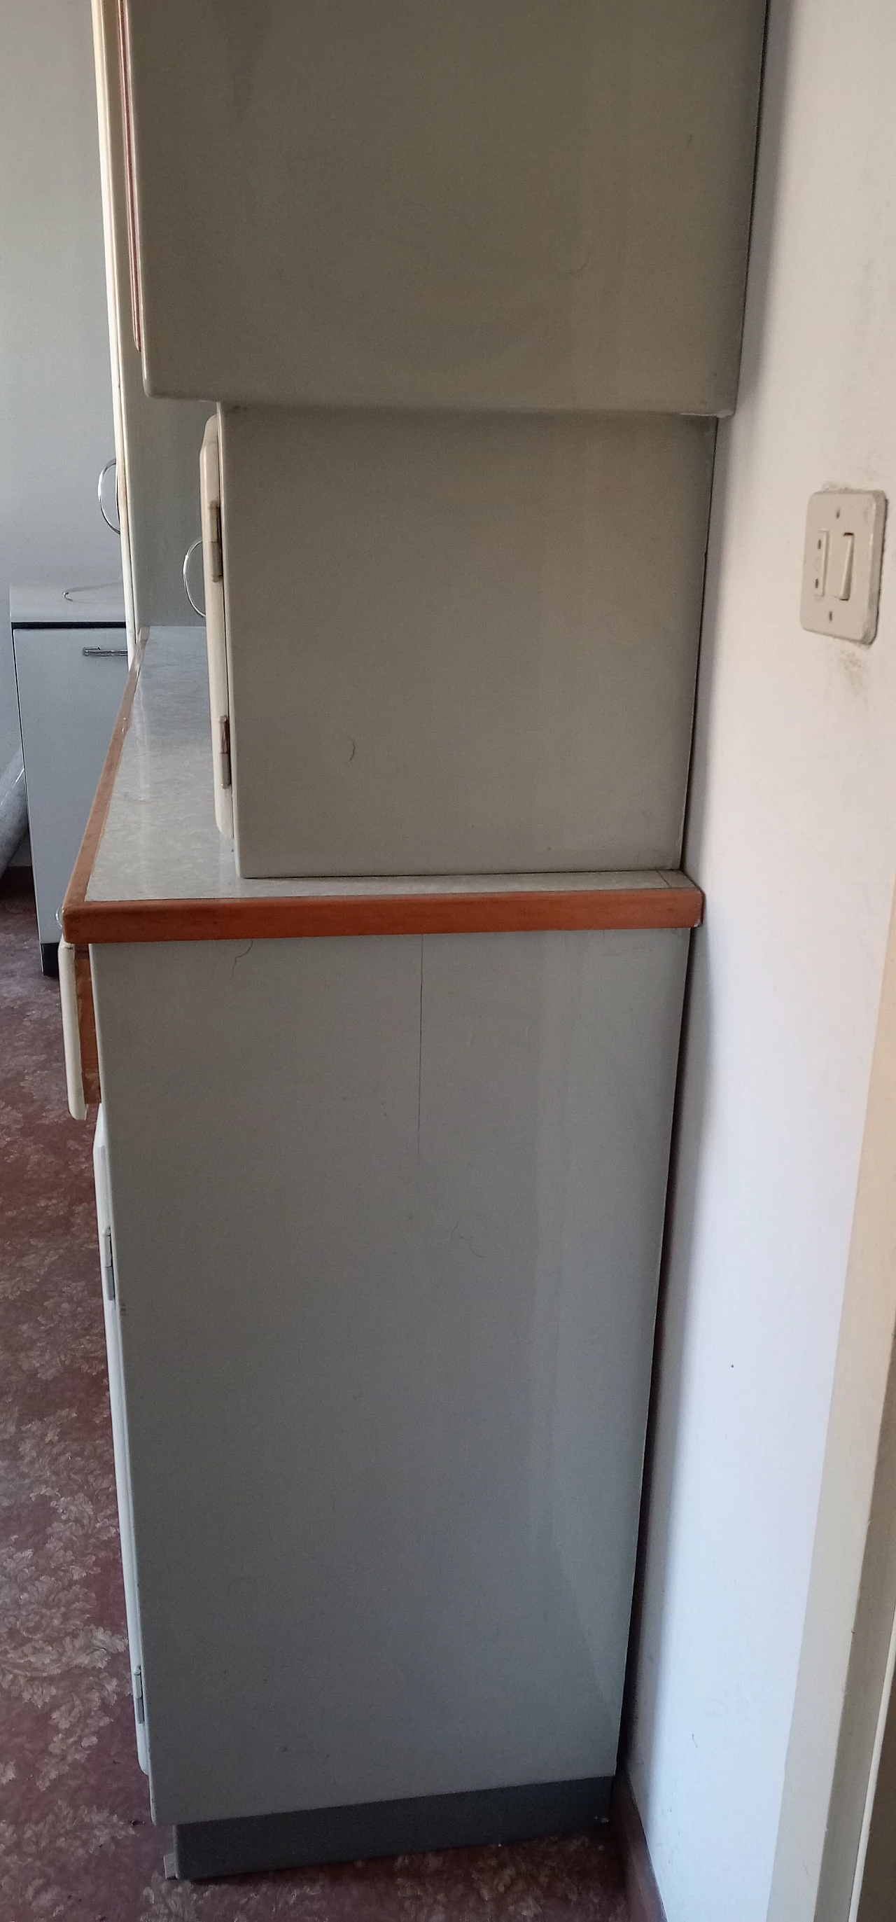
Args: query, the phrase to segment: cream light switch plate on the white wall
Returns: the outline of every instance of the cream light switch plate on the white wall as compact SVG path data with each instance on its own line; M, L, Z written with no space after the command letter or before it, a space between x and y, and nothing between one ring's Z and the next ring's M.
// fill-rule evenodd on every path
M823 488L809 500L800 623L867 646L877 634L886 494Z

